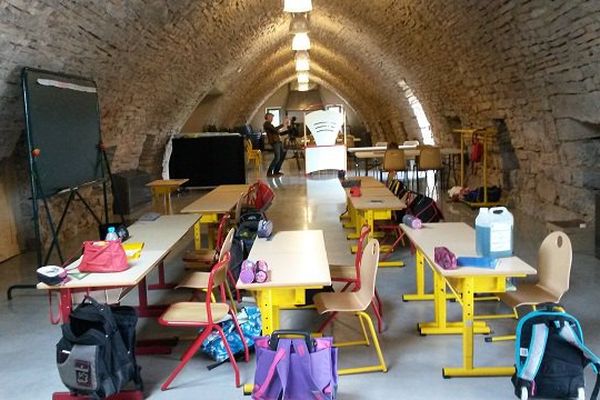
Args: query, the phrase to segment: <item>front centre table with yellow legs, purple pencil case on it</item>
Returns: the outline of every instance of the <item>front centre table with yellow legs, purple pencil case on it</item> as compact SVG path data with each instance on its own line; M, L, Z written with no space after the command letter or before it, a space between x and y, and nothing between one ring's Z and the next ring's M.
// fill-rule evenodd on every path
M331 285L323 231L282 231L270 239L257 238L249 260L264 260L269 266L265 283L245 284L238 289L254 293L262 317L262 333L279 329L279 310L306 303L306 289Z

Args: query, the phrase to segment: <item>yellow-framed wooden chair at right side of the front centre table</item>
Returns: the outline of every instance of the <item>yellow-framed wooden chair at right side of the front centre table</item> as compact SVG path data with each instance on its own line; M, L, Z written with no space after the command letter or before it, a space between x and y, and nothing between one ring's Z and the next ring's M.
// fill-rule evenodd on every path
M377 353L379 364L357 368L338 369L339 375L360 374L363 372L387 372L387 366L379 346L379 339L373 327L373 321L365 310L371 305L375 296L375 280L377 278L377 264L379 262L379 242L371 239L363 250L361 258L361 285L355 292L319 293L314 297L315 307L319 314L325 313L353 313L358 317L364 340L335 343L337 347L370 345L367 329L371 334L373 346Z

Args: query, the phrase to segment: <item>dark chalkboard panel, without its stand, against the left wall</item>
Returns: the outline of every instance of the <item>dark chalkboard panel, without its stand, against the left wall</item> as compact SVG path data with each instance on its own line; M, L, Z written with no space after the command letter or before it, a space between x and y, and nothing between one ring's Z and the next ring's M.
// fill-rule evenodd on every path
M25 124L41 193L57 192L102 178L100 113L96 83L87 78L24 68Z

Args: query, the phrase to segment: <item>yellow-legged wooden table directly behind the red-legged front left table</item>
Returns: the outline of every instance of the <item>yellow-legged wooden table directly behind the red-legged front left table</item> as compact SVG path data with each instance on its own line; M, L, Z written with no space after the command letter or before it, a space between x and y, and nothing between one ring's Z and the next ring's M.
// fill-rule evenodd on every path
M231 212L235 208L241 195L247 192L249 187L250 185L246 184L217 186L181 210L182 214L202 215L198 223L194 226L194 245L196 250L202 248L202 224L210 227L211 224L218 223L221 215ZM208 247L212 247L210 235Z

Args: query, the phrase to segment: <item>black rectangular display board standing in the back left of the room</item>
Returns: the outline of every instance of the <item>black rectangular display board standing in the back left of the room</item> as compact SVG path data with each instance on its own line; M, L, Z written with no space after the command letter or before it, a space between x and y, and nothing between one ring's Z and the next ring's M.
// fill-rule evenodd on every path
M188 178L185 186L195 187L246 183L242 136L202 134L173 139L169 178Z

